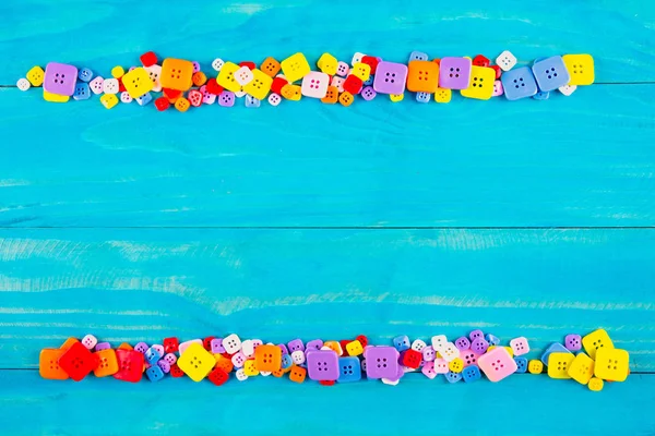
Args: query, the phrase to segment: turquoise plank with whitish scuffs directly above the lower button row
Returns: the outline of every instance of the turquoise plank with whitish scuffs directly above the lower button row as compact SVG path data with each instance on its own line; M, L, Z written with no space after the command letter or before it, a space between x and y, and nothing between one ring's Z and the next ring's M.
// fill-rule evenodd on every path
M605 327L654 371L655 230L0 230L0 361L94 332L274 342Z

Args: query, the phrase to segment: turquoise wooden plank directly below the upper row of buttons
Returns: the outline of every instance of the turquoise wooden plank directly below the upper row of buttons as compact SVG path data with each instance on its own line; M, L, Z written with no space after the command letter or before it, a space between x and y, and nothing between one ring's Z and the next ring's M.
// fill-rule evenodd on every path
M187 114L4 90L0 226L653 226L653 86Z

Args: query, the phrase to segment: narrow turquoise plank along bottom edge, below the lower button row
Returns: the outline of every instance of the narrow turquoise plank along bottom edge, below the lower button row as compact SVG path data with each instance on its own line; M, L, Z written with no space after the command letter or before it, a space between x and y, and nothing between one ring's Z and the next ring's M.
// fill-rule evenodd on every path
M215 387L165 379L138 385L38 378L0 371L2 428L20 435L652 435L655 376L592 392L573 380L514 375L498 384L448 385L418 374L333 387L258 377ZM485 419L483 419L483 416ZM487 417L489 416L489 417Z

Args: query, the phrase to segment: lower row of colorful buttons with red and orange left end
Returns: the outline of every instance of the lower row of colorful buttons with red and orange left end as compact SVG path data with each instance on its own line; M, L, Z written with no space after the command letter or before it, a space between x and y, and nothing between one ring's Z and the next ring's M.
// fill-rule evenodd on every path
M483 352L484 354L480 355L473 352L469 347L481 341L487 342L487 348L484 351L486 353ZM489 346L489 342L500 341L492 335L485 337L480 330L475 330L469 338L461 337L454 343L449 342L443 335L434 336L432 346L427 346L420 339L409 346L409 339L401 336L394 338L393 348L369 347L368 339L359 336L353 341L342 341L343 348L340 342L321 340L313 340L305 346L300 339L290 341L287 348L285 344L264 346L261 340L241 341L233 334L226 338L210 337L204 341L195 339L183 343L179 343L176 338L167 338L164 340L164 346L150 348L145 342L139 342L133 349L141 355L136 358L136 354L123 352L131 350L128 344L119 347L117 351L120 352L114 354L114 350L107 342L97 343L95 337L88 335L81 343L69 339L60 349L44 350L40 371L46 378L70 376L79 380L94 371L99 377L114 375L119 379L138 382L143 370L146 368L146 375L153 382L159 380L164 374L170 372L172 376L187 374L195 382L207 376L216 382L218 377L221 384L227 380L228 374L235 366L239 368L238 379L259 374L282 376L290 372L289 377L298 382L300 378L303 380L306 372L309 372L309 378L325 383L359 380L364 371L368 378L381 378L384 383L396 384L405 372L419 367L422 367L421 372L428 378L445 374L445 378L452 383L460 379L477 380L481 378L480 370L492 382L499 382L513 373L526 371L533 374L541 373L544 364L540 361L528 363L525 358L513 356L529 351L527 339L523 337L512 339L510 347ZM591 383L594 374L608 380L626 379L628 353L623 350L614 350L605 330L600 329L587 335L582 338L582 342L588 344L590 353L596 355L595 367L594 361L586 354L580 353L573 356L567 349L564 349L565 353L559 352L553 344L541 356L548 362L549 376L573 378L581 384L590 383L591 389L598 385L598 382ZM562 346L557 346L563 349ZM567 347L575 349L579 346L580 340L576 342L571 335L567 337ZM94 349L96 353L91 353ZM177 351L181 355L179 360L174 354ZM338 356L343 354L350 354L350 356L340 359ZM365 360L360 362L356 356L361 354ZM371 364L367 365L367 362Z

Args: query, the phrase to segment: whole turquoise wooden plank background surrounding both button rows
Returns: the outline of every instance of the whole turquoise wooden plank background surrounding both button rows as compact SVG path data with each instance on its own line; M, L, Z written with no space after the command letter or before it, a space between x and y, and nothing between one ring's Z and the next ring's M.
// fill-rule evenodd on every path
M4 0L0 17L0 433L655 434L652 2ZM151 49L205 70L296 51L588 52L597 84L541 102L187 114L51 105L12 86L34 64L106 76ZM524 335L538 355L599 326L633 373L599 393L529 375L215 388L36 371L40 348L86 332L389 341L483 328Z

